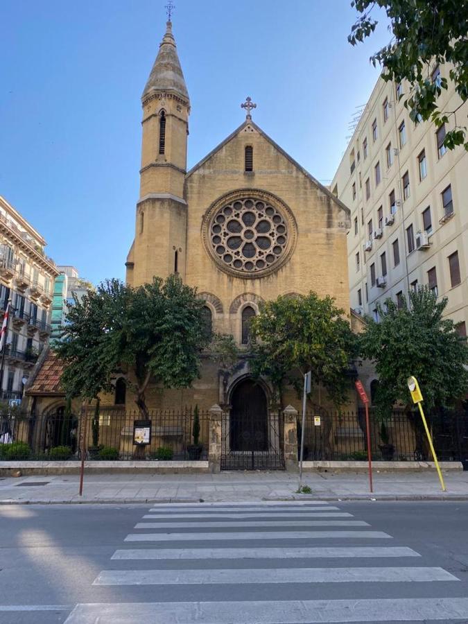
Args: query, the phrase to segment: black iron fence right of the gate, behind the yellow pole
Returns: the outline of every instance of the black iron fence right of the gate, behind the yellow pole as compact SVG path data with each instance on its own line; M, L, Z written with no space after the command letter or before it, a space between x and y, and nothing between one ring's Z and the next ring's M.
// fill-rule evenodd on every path
M444 410L426 415L437 457L468 463L468 414ZM298 439L302 416L298 417ZM431 461L431 451L419 413L394 410L381 419L370 410L370 447L374 461ZM366 460L365 410L306 413L306 460Z

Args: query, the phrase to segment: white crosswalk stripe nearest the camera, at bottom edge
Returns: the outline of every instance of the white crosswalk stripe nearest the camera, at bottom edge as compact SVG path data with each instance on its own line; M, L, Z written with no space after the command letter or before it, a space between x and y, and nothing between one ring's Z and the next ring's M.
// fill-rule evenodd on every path
M320 624L468 618L468 598L77 605L65 624Z

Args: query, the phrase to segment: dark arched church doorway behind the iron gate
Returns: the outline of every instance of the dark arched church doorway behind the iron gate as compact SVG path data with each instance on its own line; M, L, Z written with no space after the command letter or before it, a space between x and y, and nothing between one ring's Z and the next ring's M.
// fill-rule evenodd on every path
M263 388L244 379L232 392L230 440L232 451L266 451L268 410Z

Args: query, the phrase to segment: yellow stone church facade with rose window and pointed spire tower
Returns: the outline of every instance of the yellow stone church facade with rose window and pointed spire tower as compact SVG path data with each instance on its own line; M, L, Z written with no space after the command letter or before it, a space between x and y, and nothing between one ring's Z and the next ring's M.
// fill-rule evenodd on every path
M248 321L263 301L309 291L332 295L349 310L349 209L252 121L250 98L239 128L187 171L190 100L170 21L141 103L140 197L127 282L139 286L177 272L205 300L212 331L232 334L241 351L230 372L205 358L192 388L150 388L148 407L229 410L258 392L264 396L255 400L268 407L271 388L249 375ZM127 401L132 406L132 397ZM299 407L292 389L286 401Z

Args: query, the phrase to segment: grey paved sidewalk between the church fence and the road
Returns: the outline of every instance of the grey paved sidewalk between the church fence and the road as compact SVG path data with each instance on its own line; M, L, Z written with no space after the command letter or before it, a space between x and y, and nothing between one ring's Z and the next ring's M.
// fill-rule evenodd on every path
M374 470L374 494L366 474L306 473L312 494L296 494L298 476L285 472L220 474L91 474L78 496L76 475L0 478L0 504L16 503L196 503L279 500L466 500L468 471L388 474Z

